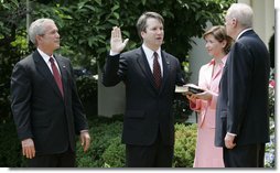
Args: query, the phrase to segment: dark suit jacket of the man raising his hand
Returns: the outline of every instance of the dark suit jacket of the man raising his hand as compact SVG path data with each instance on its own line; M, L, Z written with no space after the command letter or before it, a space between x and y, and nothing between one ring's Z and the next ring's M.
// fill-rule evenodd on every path
M160 129L163 143L174 143L174 117L172 115L175 84L184 79L177 58L162 52L163 79L155 88L152 72L142 47L107 58L103 84L126 85L126 112L122 142L126 144L152 144Z

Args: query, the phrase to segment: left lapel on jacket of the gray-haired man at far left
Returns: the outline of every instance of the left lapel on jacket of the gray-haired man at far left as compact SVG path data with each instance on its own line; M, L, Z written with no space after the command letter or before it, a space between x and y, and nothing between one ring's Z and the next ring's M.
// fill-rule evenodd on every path
M52 72L50 71L49 66L45 64L43 57L40 55L37 51L33 53L33 60L36 65L36 71L47 80L54 91L62 97L58 86L55 83Z

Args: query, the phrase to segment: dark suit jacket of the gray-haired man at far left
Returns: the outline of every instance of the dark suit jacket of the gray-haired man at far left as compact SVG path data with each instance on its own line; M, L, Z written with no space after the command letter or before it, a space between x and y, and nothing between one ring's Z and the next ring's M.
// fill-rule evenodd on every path
M75 150L75 133L88 129L69 60L55 56L64 98L43 57L35 51L13 68L11 108L20 140L32 138L36 154Z

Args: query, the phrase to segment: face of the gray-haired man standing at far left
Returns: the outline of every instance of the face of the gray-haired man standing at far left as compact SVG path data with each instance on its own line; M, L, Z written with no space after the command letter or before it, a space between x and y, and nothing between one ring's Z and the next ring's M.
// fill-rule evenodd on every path
M37 46L47 52L60 48L60 34L55 23L46 22L44 26L45 33L43 35L37 35Z

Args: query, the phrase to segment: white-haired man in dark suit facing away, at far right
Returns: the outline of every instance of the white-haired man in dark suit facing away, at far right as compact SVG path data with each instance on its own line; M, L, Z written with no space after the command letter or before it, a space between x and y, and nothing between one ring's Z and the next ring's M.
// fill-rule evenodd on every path
M252 10L234 3L225 17L233 45L220 79L215 145L227 167L263 167L269 141L269 53L251 29Z

